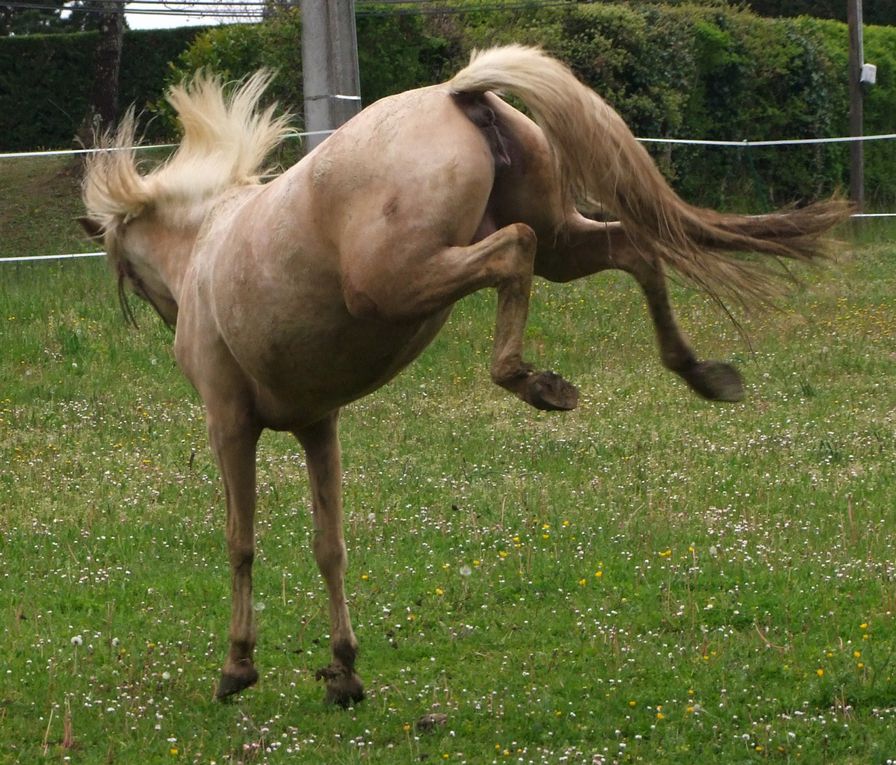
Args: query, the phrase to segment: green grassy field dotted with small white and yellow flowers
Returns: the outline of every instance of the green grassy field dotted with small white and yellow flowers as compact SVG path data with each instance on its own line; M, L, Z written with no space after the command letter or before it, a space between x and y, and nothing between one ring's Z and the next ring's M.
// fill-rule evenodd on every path
M90 249L70 177L16 173L69 193L5 192L0 255ZM0 264L0 763L896 760L894 233L748 317L752 348L676 289L738 405L661 369L622 276L536 287L529 355L580 386L565 415L488 382L494 298L464 301L344 413L349 711L313 679L294 442L258 461L261 682L215 703L223 497L170 333L124 324L99 261Z

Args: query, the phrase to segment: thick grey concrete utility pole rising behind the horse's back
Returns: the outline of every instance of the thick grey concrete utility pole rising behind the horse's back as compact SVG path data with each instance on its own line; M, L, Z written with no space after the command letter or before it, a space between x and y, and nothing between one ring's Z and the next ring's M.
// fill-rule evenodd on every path
M302 0L305 130L335 130L361 110L354 0ZM326 138L311 135L310 151Z

